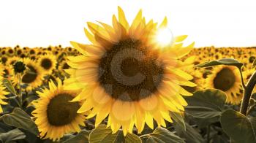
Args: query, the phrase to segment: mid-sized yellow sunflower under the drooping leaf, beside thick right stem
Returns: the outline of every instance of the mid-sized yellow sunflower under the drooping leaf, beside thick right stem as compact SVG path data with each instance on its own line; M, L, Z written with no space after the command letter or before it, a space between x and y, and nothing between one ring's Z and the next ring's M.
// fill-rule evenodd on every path
M241 77L235 66L216 66L206 78L206 88L215 88L226 93L227 103L241 102Z

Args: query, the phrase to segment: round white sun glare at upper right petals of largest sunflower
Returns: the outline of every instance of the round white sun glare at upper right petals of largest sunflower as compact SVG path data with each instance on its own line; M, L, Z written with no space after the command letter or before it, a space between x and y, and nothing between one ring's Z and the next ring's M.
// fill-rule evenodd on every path
M173 33L169 28L160 28L156 34L157 44L161 46L171 45L173 42Z

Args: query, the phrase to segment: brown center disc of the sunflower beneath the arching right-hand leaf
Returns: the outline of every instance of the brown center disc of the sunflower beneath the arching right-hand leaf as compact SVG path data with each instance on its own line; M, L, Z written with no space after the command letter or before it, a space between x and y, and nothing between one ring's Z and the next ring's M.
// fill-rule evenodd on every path
M233 87L236 82L236 75L232 70L224 68L219 71L214 78L214 88L227 91Z

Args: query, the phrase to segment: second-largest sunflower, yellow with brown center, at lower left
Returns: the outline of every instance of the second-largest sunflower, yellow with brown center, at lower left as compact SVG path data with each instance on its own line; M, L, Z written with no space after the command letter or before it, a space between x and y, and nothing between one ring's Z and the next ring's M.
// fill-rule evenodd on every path
M80 102L70 102L77 93L64 90L61 80L58 85L49 82L49 89L37 91L39 98L33 102L32 115L43 139L61 139L64 134L80 131L79 125L85 125L85 115L77 113Z

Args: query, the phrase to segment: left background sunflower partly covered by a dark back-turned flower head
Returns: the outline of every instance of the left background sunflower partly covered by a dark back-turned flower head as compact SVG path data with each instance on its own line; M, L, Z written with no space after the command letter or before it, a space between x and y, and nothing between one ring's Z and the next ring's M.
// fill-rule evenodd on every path
M42 85L43 77L45 76L43 69L38 66L35 61L29 58L23 59L26 64L26 71L21 77L21 84L26 84L26 90L32 90ZM18 74L14 78L15 85L18 84Z

